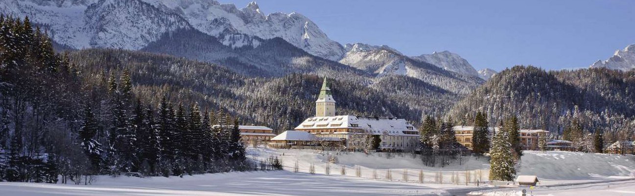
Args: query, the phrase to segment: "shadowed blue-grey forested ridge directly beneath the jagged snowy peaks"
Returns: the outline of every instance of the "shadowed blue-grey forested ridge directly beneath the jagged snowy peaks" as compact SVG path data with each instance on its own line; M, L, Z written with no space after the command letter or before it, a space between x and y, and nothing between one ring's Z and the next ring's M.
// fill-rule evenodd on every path
M197 31L180 29L166 32L149 43L145 52L164 53L187 59L212 62L246 76L284 76L290 73L320 73L359 78L364 73L352 67L313 56L281 38L251 38L257 46L238 48L223 45L217 38Z

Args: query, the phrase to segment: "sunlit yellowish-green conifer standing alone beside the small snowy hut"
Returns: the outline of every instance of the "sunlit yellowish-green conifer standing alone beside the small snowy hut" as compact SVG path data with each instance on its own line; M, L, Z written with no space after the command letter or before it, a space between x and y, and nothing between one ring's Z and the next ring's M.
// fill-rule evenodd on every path
M490 149L490 180L512 181L516 175L516 158L505 125L494 134Z

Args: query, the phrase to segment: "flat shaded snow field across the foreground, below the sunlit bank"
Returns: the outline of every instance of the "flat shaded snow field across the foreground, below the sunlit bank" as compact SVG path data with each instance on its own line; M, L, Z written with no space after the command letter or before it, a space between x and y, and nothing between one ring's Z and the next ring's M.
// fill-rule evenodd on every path
M447 195L443 188L448 186L269 171L184 178L100 176L86 186L0 183L0 195Z

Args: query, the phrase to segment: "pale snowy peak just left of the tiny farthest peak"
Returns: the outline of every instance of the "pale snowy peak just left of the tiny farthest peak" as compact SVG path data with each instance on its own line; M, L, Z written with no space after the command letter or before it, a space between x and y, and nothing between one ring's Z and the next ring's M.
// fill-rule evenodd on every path
M479 73L472 67L472 65L463 59L456 53L448 51L434 52L432 54L419 55L417 57L411 57L412 59L419 60L421 62L427 62L429 64L436 65L448 71L453 71L460 74L469 76L479 76Z

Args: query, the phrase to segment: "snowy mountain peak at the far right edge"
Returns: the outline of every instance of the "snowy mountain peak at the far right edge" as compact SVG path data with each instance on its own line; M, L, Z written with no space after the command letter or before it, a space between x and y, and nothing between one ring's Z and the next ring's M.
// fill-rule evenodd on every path
M619 69L629 71L635 69L635 44L626 46L624 50L617 50L613 57L608 60L598 60L591 67L606 67L608 69Z

